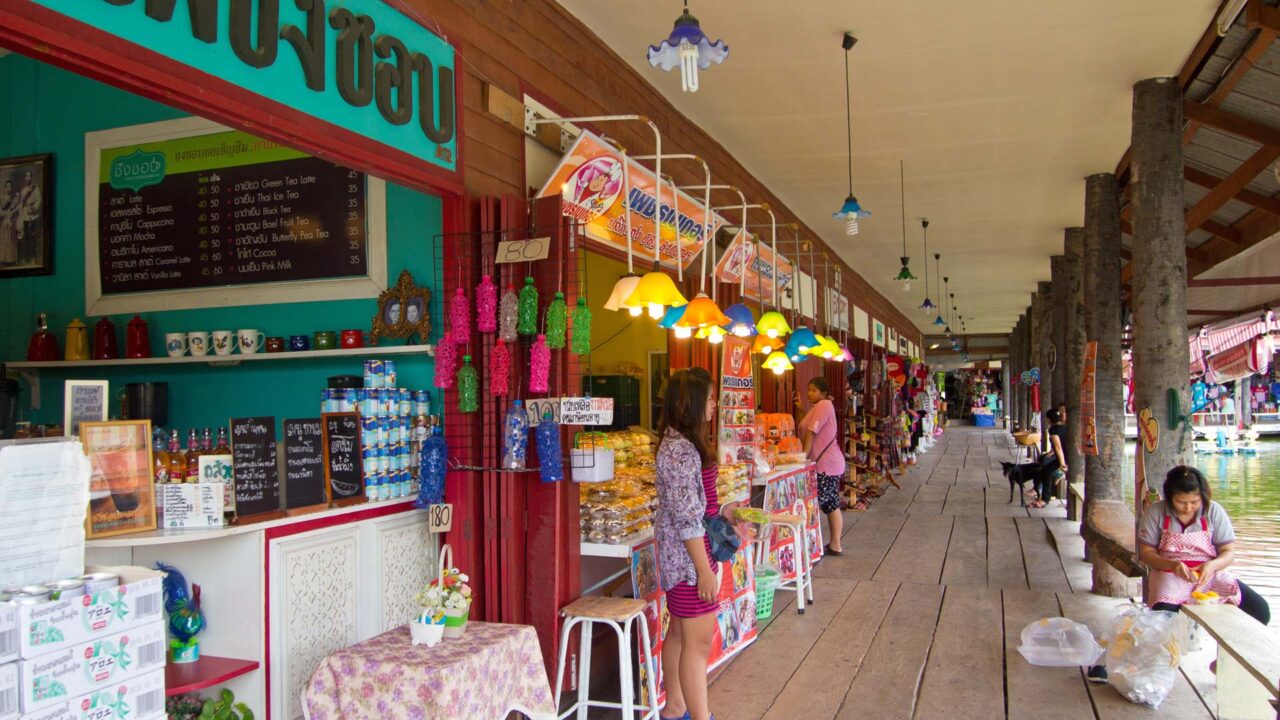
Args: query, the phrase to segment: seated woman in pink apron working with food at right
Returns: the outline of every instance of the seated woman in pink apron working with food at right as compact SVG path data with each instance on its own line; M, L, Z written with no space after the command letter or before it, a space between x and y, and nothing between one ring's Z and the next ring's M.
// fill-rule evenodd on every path
M1178 612L1194 602L1193 592L1212 592L1258 623L1270 623L1267 601L1226 573L1235 560L1235 530L1226 510L1210 498L1204 475L1179 465L1165 475L1162 495L1138 523L1138 557L1151 568L1151 609ZM1091 667L1089 679L1106 682L1106 670Z

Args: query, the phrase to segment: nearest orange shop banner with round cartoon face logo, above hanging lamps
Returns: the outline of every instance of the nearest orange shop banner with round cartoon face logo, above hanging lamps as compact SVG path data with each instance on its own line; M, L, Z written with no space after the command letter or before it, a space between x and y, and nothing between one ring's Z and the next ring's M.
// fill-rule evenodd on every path
M637 259L653 259L654 213L658 211L658 196L654 193L653 170L640 163L627 159L628 170L623 173L622 154L599 137L584 132L579 135L573 147L561 159L556 172L538 192L538 197L559 197L561 211L584 224L591 240L626 252L627 224L631 217L631 249ZM623 196L623 184L630 184L630 192ZM708 210L700 200L680 192L673 193L671 186L662 188L662 264L676 266L676 231L680 224L680 261L685 268L698 258L704 237L716 237L724 219ZM676 199L678 197L678 206ZM703 225L709 224L704 234Z

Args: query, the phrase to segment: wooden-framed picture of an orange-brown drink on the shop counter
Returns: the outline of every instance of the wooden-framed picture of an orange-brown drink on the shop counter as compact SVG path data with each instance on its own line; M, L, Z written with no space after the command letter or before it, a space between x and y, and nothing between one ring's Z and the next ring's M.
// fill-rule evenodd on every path
M79 436L90 462L86 537L154 530L151 420L82 421Z

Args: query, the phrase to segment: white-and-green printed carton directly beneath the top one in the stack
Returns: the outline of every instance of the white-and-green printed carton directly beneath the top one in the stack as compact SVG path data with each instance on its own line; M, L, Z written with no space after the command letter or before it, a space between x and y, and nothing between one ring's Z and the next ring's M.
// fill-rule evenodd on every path
M18 705L23 714L32 714L151 670L164 670L166 650L164 621L157 620L19 660Z

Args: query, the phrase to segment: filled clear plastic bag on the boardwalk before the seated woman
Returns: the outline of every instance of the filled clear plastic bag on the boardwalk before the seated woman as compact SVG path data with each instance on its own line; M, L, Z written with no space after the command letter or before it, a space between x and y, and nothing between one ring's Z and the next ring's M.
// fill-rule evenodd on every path
M1130 702L1160 707L1178 679L1184 647L1176 612L1126 607L1111 621L1107 675Z

